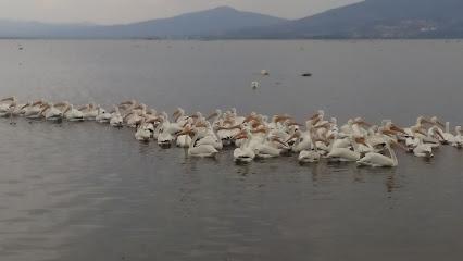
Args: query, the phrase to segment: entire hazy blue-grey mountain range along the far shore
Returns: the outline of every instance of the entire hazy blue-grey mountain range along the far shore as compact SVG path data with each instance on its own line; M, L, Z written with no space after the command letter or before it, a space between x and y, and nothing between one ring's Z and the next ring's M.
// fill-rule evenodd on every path
M0 20L0 38L462 38L461 10L462 0L365 0L292 21L229 7L110 26Z

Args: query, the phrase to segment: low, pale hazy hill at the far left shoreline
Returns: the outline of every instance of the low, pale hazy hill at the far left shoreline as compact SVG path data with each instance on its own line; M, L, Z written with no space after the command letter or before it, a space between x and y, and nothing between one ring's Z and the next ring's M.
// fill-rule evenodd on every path
M0 38L48 38L72 30L82 30L97 27L91 23L51 24L39 22L23 22L0 20Z

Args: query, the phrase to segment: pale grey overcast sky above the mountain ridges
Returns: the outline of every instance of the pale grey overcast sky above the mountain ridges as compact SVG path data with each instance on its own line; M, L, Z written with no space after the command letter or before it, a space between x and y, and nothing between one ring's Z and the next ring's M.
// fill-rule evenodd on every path
M0 0L0 18L41 22L130 23L229 5L287 18L361 0Z

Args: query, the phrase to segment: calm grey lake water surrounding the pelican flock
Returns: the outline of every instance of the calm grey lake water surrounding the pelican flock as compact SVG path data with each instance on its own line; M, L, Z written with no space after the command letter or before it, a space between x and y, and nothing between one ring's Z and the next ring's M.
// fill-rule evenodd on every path
M2 40L0 58L0 96L22 101L463 124L456 40ZM463 151L451 146L370 169L236 165L232 149L195 159L95 122L0 119L0 135L1 260L463 258Z

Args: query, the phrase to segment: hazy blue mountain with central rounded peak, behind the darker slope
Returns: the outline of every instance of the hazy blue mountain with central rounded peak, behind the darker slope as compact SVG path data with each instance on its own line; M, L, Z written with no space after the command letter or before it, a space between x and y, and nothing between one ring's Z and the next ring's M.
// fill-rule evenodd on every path
M78 38L184 38L211 36L227 30L270 26L283 22L287 22L287 20L221 7L171 18L71 32L63 36Z

